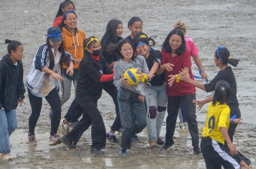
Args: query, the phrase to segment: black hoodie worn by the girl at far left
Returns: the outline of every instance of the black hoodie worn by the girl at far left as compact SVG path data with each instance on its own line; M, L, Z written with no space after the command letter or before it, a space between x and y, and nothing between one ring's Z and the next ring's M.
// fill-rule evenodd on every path
M22 61L17 61L16 66L6 54L0 61L0 109L5 108L5 112L16 109L18 98L23 100L25 92Z

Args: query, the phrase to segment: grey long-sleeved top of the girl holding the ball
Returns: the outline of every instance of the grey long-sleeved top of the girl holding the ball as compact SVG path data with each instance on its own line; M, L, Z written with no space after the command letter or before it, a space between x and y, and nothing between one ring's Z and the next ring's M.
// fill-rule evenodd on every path
M124 62L123 59L120 59L114 64L114 82L113 82L113 84L116 87L127 88L133 92L139 93L142 96L146 96L146 92L144 90L144 86L143 86L142 82L139 82L134 86L126 86L125 84L123 84L121 82L122 75L125 73L125 71L127 69L131 69L131 68L139 69L142 73L144 73L146 75L149 73L146 60L141 55L138 55L135 58L135 61L131 60L130 62Z

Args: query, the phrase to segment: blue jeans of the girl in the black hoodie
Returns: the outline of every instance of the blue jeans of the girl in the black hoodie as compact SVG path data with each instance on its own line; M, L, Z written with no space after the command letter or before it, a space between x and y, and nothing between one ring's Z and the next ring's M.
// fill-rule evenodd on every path
M18 126L15 109L9 112L5 112L5 109L0 109L0 124L0 153L10 153L9 137Z

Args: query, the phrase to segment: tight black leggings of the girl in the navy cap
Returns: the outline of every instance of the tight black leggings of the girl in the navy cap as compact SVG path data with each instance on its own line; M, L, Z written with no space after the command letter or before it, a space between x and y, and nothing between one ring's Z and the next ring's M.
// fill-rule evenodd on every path
M34 96L30 92L30 90L28 90L28 98L31 105L31 109L32 109L32 113L28 119L28 126L29 126L28 132L30 134L34 134L36 123L40 116L40 112L42 108L42 98ZM60 102L57 89L54 88L53 90L51 90L51 92L48 94L48 96L45 97L45 99L50 104L53 112L53 115L51 118L51 133L50 133L50 135L53 136L54 134L57 133L59 122L61 119L61 102Z

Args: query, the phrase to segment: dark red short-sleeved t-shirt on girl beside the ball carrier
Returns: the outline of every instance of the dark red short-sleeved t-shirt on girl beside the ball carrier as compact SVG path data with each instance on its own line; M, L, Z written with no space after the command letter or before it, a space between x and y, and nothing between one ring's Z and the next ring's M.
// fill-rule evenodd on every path
M170 63L173 64L174 67L172 68L172 71L166 71L165 70L165 81L166 81L166 94L168 96L183 96L188 94L194 94L196 92L195 86L192 84L189 84L187 82L184 82L182 80L179 80L179 83L174 81L172 84L172 87L168 85L168 80L170 77L169 75L177 75L179 74L179 71L183 69L183 67L189 67L189 76L191 79L194 80L194 76L192 74L191 70L191 60L190 60L190 53L189 50L185 50L180 56L176 55L175 57L172 57L171 53L166 53L162 50L162 62L161 65Z

